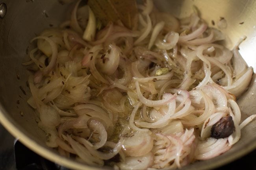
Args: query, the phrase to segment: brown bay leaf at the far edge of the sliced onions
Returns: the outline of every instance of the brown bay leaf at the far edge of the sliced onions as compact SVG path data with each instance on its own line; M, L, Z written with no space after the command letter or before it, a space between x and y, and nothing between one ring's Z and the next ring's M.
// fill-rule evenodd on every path
M121 20L124 26L132 28L137 21L136 0L89 0L88 5L104 26Z

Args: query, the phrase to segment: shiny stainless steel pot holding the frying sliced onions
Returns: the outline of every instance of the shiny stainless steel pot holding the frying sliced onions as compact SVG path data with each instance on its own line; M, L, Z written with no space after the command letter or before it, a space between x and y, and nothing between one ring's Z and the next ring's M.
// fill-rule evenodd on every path
M99 170L61 157L45 145L45 133L37 127L36 116L26 100L30 97L26 85L29 72L21 65L27 54L29 41L44 28L58 26L67 16L68 6L57 0L0 0L0 122L22 143L37 154L60 165L76 170ZM240 52L249 66L256 68L256 1L254 0L156 0L156 6L177 17L189 15L195 5L210 26L220 17L227 21L222 31L228 37L228 46L246 35ZM1 11L2 10L2 11ZM240 24L239 24L240 23ZM216 26L216 24L215 24ZM248 90L238 100L245 119L256 112L255 75ZM224 165L256 148L256 121L241 132L240 141L231 150L207 161L195 162L182 170L203 170Z

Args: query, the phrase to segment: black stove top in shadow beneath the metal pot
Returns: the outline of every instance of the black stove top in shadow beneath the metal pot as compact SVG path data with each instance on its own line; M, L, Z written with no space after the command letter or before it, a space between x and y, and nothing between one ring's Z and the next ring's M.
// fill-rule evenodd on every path
M69 170L35 154L0 125L0 170ZM256 170L256 150L215 170Z

